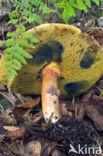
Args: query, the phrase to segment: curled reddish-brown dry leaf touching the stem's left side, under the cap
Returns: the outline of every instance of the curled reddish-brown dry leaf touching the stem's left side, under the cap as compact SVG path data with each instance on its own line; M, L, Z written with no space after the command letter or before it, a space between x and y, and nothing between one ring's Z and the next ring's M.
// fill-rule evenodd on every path
M28 102L22 103L20 105L17 105L14 109L13 109L13 114L14 117L16 119L20 119L24 116L26 116L33 107L35 107L36 105L38 105L40 103L40 97L34 99L34 100L30 100Z

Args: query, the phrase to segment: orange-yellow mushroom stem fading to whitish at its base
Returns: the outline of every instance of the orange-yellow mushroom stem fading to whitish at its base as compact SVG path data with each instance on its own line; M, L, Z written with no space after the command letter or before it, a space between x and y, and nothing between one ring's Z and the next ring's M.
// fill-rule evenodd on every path
M56 63L50 63L42 71L42 110L45 121L55 123L60 119L58 78L60 69Z

